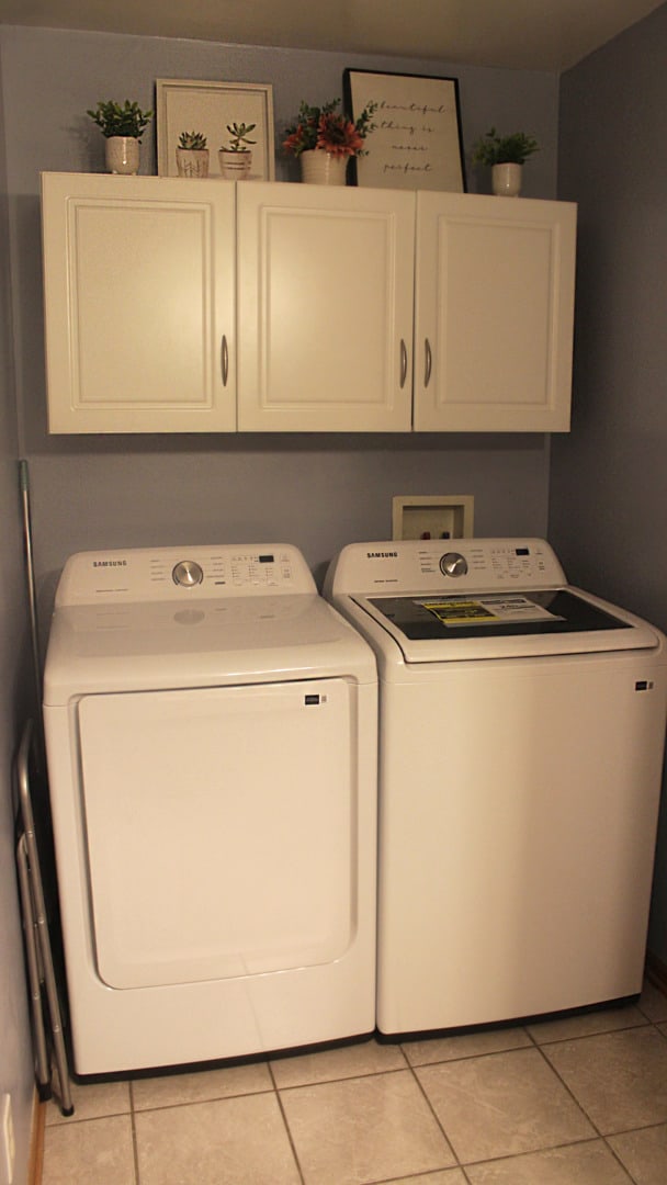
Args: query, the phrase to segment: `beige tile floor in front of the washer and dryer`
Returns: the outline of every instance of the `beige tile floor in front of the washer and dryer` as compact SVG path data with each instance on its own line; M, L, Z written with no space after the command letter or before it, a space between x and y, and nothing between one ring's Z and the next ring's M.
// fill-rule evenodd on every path
M73 1087L43 1185L665 1185L667 999Z

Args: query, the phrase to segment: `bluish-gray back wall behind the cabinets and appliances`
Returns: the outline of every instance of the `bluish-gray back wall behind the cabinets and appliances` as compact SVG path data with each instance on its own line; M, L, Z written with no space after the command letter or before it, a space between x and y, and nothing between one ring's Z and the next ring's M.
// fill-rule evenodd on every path
M84 114L98 98L128 96L149 107L155 78L165 77L270 82L277 140L302 97L340 95L345 66L371 66L457 76L468 152L492 123L528 128L544 148L527 169L525 192L554 197L556 76L12 27L0 30L0 45L21 440L31 462L45 610L65 558L86 547L282 538L302 547L320 577L342 544L391 533L395 493L474 494L477 533L544 532L543 436L50 438L38 191L40 169L103 168L102 136ZM143 147L142 172L154 172L152 136ZM277 175L286 175L280 160ZM485 187L488 177L469 171L469 188Z

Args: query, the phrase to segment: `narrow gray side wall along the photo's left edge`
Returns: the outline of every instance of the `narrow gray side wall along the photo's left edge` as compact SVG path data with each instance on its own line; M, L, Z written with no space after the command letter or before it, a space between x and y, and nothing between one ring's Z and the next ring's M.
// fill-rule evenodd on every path
M24 591L17 414L9 315L7 178L0 70L0 1094L12 1096L17 1185L27 1180L33 1095L21 929L14 876L12 766L30 704L30 643Z

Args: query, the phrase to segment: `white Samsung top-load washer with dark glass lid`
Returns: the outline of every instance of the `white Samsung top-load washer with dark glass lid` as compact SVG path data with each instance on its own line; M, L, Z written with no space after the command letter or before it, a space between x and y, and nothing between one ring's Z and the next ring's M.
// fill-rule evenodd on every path
M353 544L325 585L380 692L378 1027L640 992L665 639L538 539Z

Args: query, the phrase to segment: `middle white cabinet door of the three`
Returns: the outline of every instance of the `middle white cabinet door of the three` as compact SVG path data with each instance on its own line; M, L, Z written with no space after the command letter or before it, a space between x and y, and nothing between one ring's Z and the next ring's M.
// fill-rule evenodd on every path
M238 186L238 428L409 431L415 196Z

